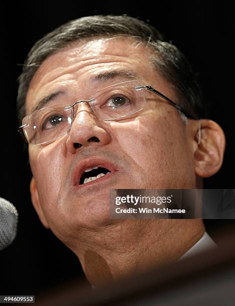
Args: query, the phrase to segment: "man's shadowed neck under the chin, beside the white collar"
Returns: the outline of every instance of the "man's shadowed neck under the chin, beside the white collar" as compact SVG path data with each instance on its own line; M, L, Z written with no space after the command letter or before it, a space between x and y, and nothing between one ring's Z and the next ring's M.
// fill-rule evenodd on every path
M204 230L200 219L128 219L82 233L82 241L72 250L88 281L97 287L176 261Z

